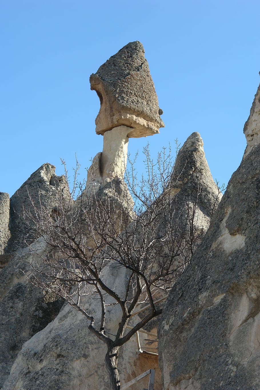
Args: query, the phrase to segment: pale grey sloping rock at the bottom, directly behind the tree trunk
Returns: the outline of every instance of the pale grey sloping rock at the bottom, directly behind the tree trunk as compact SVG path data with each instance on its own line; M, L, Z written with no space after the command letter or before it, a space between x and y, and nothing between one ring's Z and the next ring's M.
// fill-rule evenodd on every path
M106 283L111 286L116 283L117 291L123 294L128 281L127 271L111 266L105 272L108 279ZM86 305L98 318L98 301L91 296L86 299ZM119 310L117 306L107 308L106 331L115 333ZM104 363L106 346L88 330L88 325L89 321L81 313L68 304L64 305L53 322L23 344L2 389L109 389L110 383ZM119 370L122 383L148 368L158 367L155 359L136 356L136 351L135 338L121 348ZM159 388L159 374L156 379ZM147 387L147 384L147 378L144 378L138 386L133 386L133 389Z

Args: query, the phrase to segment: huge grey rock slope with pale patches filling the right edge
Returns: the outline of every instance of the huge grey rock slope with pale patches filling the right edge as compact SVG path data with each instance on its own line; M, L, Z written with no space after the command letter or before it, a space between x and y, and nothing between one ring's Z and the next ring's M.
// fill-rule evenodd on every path
M260 388L260 89L248 141L199 250L159 326L165 390Z

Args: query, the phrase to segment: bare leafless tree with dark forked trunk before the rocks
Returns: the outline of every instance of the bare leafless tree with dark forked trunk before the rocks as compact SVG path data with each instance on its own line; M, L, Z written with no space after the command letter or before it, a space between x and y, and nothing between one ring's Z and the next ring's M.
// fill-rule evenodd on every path
M86 191L77 183L77 165L67 202L57 199L58 207L50 214L31 199L24 211L41 236L37 246L31 245L31 281L87 317L89 330L107 346L105 362L113 390L120 389L119 348L161 313L155 303L158 291L171 288L205 232L197 213L200 174L194 175L193 191L180 198L175 183L182 172L173 174L170 154L164 150L153 162L147 147L144 155L146 175L139 180L134 160L125 176L127 185L111 178L98 191L94 185ZM108 282L111 267L127 274L123 289ZM87 307L86 296L98 298L99 319ZM146 315L128 328L134 309L144 303L150 305ZM121 313L114 336L106 332L109 305L118 305Z

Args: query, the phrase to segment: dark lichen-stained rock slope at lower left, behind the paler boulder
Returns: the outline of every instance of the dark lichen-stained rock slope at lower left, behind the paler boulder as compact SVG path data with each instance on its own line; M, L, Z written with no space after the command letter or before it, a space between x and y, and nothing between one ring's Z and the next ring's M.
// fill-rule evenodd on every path
M45 328L63 304L28 282L30 256L28 248L23 249L0 272L0 388L23 344Z

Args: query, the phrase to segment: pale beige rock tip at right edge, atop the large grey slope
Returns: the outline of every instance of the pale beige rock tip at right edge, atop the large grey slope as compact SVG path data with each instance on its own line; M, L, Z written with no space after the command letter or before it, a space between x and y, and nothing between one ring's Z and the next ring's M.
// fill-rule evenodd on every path
M247 147L245 156L258 144L260 144L260 85L255 94L248 120L244 126Z

